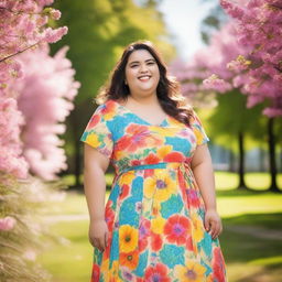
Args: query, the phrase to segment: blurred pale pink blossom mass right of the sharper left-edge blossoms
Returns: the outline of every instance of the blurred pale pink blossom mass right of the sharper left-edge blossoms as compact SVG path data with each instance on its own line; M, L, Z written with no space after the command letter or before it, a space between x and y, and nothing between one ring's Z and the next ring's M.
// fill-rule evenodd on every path
M59 50L54 57L48 55L48 46L24 52L18 58L24 77L9 87L9 91L20 94L18 105L25 119L21 132L24 159L30 171L44 180L54 180L66 169L63 140L57 134L65 132L65 124L59 122L74 108L79 87L66 51Z

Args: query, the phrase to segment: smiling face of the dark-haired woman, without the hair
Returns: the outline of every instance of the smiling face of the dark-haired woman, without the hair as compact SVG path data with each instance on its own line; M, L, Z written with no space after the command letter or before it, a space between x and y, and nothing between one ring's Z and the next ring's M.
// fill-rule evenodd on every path
M126 83L131 95L156 94L159 80L159 66L147 50L137 50L130 54L126 66Z

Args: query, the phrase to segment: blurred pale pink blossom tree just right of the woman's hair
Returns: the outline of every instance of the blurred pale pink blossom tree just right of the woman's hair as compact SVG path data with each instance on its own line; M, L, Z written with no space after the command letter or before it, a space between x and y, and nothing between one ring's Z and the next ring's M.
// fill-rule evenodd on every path
M171 72L181 82L182 93L195 106L210 105L215 91L224 94L234 88L234 73L226 68L226 64L247 53L247 48L237 44L235 32L232 23L226 24L188 63L175 61L171 65Z

